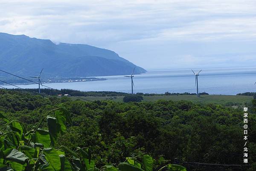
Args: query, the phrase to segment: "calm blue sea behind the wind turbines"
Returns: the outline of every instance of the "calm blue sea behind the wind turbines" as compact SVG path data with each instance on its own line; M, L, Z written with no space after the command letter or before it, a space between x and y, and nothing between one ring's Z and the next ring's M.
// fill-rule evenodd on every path
M198 72L199 69L195 69ZM82 91L117 91L131 93L131 79L124 76L103 76L105 81L44 84L55 89L67 88ZM199 92L236 95L256 92L256 67L203 69L198 76ZM191 70L151 70L134 75L134 93L195 93L195 75ZM38 85L18 85L22 88L37 88ZM12 86L5 86L12 88Z

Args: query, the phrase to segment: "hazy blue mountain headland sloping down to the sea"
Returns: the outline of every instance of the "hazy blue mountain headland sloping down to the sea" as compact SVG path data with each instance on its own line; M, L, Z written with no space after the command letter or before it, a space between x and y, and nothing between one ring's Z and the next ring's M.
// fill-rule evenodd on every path
M129 75L134 67L135 74L146 72L108 49L6 33L0 33L0 64L21 76L36 76L44 68L48 78Z

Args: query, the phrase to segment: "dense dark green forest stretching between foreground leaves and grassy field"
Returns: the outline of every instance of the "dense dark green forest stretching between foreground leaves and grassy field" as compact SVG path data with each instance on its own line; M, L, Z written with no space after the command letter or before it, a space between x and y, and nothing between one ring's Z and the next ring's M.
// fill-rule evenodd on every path
M246 105L250 165L237 170L253 170L256 163L256 101ZM72 150L89 148L98 168L145 154L153 157L154 170L168 163L178 163L188 171L236 170L232 166L207 167L188 162L244 165L241 108L190 101L71 101L67 97L23 96L0 90L1 114L20 121L27 130L34 129L41 121L42 128L47 129L44 117L56 107L64 107L72 122L56 139L55 148L61 145ZM6 122L0 119L0 130L5 126Z

